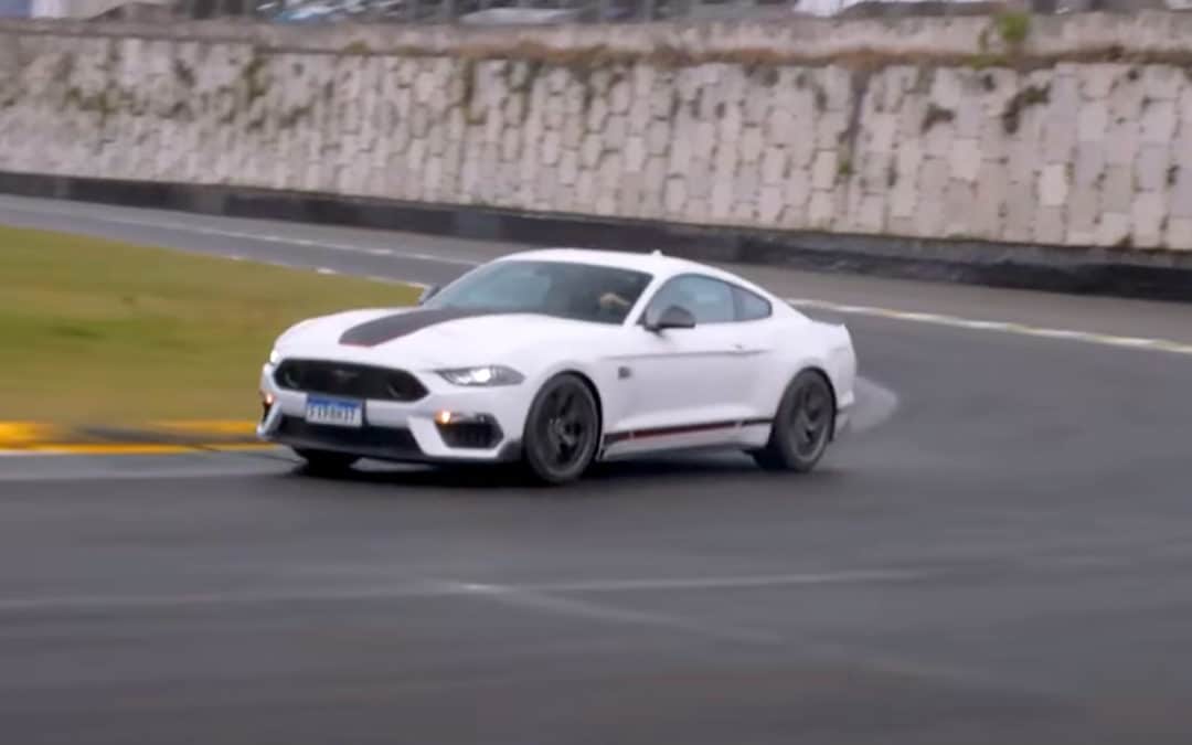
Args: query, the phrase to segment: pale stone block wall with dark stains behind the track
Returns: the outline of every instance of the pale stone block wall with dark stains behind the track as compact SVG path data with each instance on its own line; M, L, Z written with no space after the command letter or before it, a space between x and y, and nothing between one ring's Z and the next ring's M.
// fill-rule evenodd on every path
M987 19L930 23L988 38ZM12 29L0 30L0 170L1192 250L1192 68L1179 49L815 57L781 39L703 55L694 41L635 39L635 54L561 54L517 35L502 49L501 31L478 50L474 36L327 49L263 32Z

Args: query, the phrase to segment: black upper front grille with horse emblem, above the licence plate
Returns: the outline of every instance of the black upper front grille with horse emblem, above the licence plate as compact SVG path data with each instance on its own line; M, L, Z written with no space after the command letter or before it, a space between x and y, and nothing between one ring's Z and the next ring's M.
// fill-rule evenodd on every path
M418 401L428 392L404 370L323 360L285 360L273 380L291 391L373 401Z

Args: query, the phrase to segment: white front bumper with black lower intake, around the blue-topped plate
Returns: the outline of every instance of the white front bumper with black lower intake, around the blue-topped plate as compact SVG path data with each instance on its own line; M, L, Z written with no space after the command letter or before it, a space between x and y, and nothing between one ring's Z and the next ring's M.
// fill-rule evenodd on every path
M359 428L310 424L306 393L283 389L261 368L266 401L256 434L293 448L350 453L399 462L503 462L521 457L529 387L461 387L420 375L429 393L417 402L364 401ZM442 412L451 421L440 421Z

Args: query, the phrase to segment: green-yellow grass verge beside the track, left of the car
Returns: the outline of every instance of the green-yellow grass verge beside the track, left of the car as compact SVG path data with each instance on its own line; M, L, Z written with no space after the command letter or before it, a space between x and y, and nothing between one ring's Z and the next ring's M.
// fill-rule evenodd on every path
M255 418L261 362L302 318L415 287L0 226L0 421Z

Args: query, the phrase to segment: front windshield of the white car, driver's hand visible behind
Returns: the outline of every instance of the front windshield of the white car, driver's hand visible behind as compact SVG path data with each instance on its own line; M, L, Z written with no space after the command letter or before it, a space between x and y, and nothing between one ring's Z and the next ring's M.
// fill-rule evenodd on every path
M570 261L497 261L452 283L426 308L623 323L651 279L644 272Z

